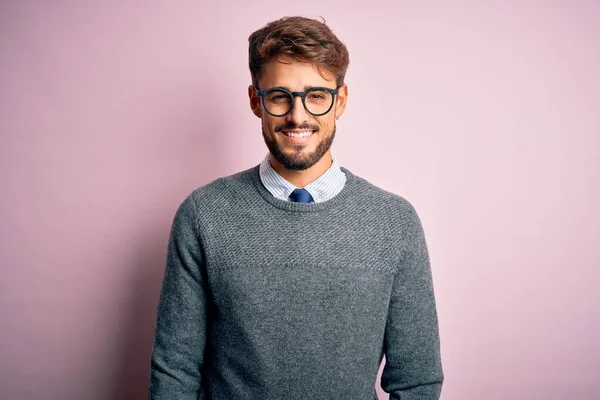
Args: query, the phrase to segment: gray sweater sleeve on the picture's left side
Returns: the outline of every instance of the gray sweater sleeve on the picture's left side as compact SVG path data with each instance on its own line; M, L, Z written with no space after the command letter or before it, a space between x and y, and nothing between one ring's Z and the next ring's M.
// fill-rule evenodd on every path
M154 346L149 400L203 399L200 370L204 357L206 278L190 195L179 206L169 238Z

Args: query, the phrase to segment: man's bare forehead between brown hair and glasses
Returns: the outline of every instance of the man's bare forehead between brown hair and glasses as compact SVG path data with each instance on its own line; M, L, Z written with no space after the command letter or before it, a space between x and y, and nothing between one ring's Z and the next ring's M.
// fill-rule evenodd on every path
M261 89L283 86L300 91L310 86L333 88L335 77L327 71L320 72L314 64L274 60L263 65L258 84Z

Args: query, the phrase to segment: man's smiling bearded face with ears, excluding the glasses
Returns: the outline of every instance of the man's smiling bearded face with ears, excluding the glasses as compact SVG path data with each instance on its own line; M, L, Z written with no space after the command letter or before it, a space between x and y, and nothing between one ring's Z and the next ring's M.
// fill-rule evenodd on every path
M304 92L312 87L336 88L335 77L328 73L321 76L312 64L298 62L271 62L263 66L258 82L261 90L283 87L290 92ZM342 85L334 98L331 110L322 116L309 114L300 97L295 97L291 111L283 117L266 112L255 88L248 88L250 106L262 120L262 134L274 161L290 170L305 170L319 161L329 163L330 147L335 136L335 118L346 105L347 87ZM309 133L308 136L305 136ZM291 137L295 134L300 137ZM323 157L327 155L327 157Z

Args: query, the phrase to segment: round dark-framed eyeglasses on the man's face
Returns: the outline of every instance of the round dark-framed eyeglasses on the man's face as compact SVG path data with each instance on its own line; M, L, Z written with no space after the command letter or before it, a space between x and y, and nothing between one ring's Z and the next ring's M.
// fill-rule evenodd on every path
M327 114L333 107L337 89L313 87L306 92L290 92L282 87L258 90L265 111L274 117L287 115L294 107L296 96L302 98L304 109L312 116L320 117Z

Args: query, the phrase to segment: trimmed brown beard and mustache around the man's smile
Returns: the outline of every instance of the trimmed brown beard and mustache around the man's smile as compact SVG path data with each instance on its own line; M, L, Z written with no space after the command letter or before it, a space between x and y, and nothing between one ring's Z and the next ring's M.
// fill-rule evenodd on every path
M313 135L318 132L318 127L308 127L308 126L303 126L303 125L301 125L299 127L282 125L282 126L277 127L275 129L275 132L280 132L283 129L313 129L315 131L313 133ZM262 130L262 134L263 134L263 139L265 140L265 144L267 145L267 147L269 148L269 151L271 152L271 154L273 155L275 160L277 160L277 162L279 162L281 165L283 165L286 169L302 171L302 170L312 167L321 158L323 158L325 153L327 153L327 151L331 148L331 144L333 143L333 139L335 138L335 131L336 131L336 125L334 122L333 129L331 130L331 134L325 136L319 142L319 144L317 144L317 147L315 148L315 150L308 154L303 152L304 147L305 147L303 145L292 146L292 148L294 149L293 153L291 153L291 154L286 153L283 151L283 149L281 148L281 146L277 143L277 141L275 139L267 136L264 129Z

